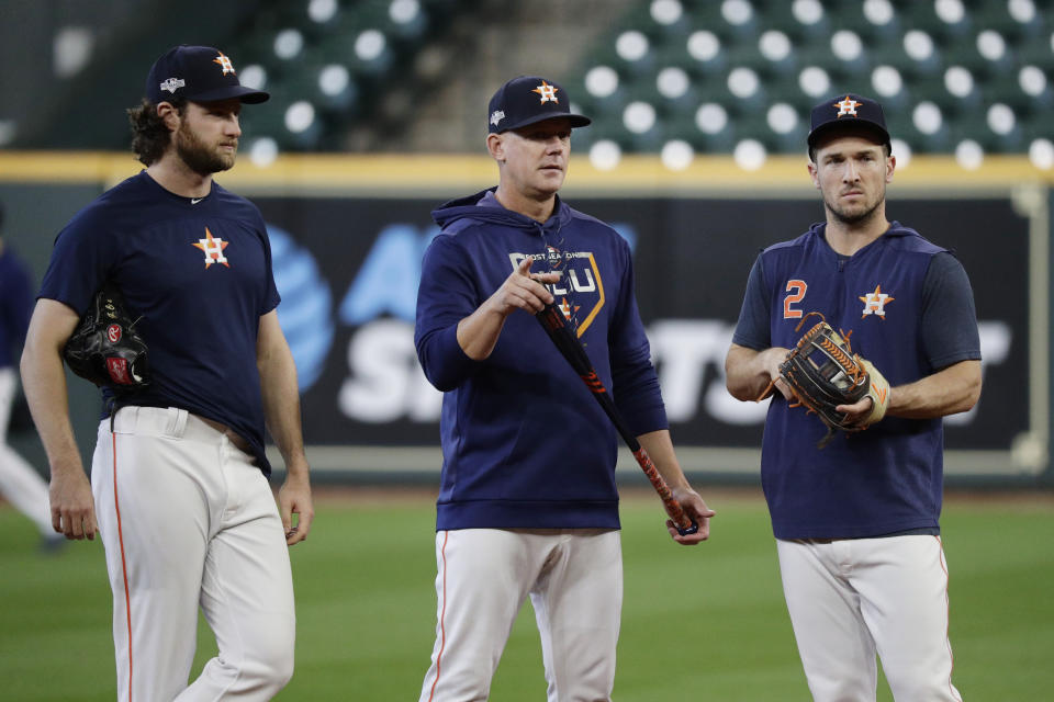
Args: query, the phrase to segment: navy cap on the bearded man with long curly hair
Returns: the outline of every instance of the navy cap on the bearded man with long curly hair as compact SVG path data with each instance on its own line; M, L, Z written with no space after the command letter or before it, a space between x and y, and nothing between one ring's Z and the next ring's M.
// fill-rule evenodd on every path
M146 77L146 99L154 104L173 98L191 102L240 98L242 102L257 103L270 97L243 86L231 59L211 46L172 47L154 61Z

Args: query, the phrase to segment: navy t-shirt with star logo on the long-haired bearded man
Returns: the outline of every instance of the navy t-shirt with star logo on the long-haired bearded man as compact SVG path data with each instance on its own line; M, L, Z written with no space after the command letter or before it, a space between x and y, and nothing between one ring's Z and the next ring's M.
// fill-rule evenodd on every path
M121 404L223 422L270 473L256 342L260 317L280 298L259 210L215 182L190 199L142 171L59 233L40 296L80 315L108 280L133 319L142 316L136 330L149 348L150 386Z

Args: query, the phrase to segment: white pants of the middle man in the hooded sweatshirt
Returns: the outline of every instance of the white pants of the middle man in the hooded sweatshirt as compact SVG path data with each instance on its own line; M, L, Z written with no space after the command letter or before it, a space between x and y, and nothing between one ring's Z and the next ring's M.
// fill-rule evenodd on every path
M440 531L436 561L436 645L421 702L486 700L527 596L549 702L610 700L623 604L617 530Z

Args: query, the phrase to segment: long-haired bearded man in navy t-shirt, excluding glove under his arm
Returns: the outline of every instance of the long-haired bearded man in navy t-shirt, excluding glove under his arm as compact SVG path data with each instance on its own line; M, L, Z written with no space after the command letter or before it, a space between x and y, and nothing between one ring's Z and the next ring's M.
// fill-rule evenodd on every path
M68 539L102 535L119 700L269 700L293 672L288 546L313 518L296 372L264 219L213 180L234 166L242 104L267 99L215 48L158 58L128 111L147 168L59 233L30 324L22 376L51 462L53 524ZM142 315L152 384L104 392L89 486L61 349L108 280ZM279 507L265 421L288 471ZM218 654L188 687L199 605Z

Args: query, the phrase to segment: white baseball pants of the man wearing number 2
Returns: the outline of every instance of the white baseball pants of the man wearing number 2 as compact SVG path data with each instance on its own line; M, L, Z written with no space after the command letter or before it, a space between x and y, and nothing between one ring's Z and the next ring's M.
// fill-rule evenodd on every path
M899 702L961 702L939 536L776 542L816 702L874 702L875 654Z

